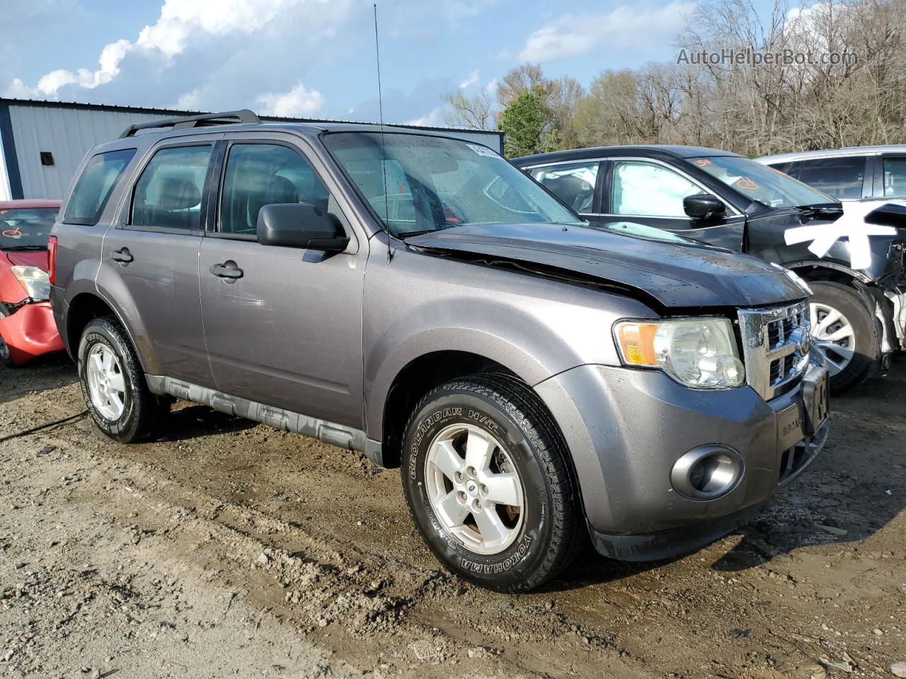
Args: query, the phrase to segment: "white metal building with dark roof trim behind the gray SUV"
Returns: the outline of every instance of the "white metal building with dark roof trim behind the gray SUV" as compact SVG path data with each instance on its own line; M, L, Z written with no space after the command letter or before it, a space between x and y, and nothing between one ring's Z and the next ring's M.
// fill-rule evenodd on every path
M63 101L0 99L0 200L63 198L85 154L130 125L197 111L140 109ZM326 122L262 117L280 122ZM478 141L503 153L503 132L427 128Z

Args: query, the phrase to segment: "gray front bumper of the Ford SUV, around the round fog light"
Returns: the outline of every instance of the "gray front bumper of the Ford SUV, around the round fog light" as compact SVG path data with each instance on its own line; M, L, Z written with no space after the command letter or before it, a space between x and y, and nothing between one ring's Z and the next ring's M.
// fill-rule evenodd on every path
M797 387L769 402L750 387L694 391L660 371L606 366L567 370L535 390L572 452L595 548L650 560L733 531L814 461L828 426L813 431L809 389L823 372L813 359ZM690 499L670 482L679 457L702 445L726 446L744 463L735 487L713 500Z

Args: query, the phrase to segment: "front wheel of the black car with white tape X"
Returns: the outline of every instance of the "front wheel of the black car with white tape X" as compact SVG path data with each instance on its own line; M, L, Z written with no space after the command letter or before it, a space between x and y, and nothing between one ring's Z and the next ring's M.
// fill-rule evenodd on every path
M830 281L810 282L814 347L831 371L830 387L841 392L872 377L881 355L872 309L858 291Z

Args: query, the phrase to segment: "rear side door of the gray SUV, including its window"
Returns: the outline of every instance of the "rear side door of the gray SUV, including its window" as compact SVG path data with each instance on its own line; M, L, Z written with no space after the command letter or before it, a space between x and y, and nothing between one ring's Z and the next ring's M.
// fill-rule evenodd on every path
M211 386L198 293L212 135L164 140L104 237L99 286L128 318L150 374Z

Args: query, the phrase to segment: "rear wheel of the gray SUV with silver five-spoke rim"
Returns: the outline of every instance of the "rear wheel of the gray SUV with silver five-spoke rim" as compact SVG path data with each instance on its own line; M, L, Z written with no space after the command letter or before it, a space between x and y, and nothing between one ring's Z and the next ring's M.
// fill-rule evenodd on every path
M123 443L149 435L169 404L149 391L120 323L110 316L90 321L78 359L85 407L98 428Z

